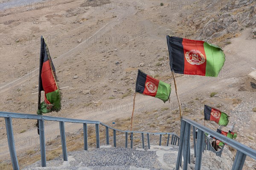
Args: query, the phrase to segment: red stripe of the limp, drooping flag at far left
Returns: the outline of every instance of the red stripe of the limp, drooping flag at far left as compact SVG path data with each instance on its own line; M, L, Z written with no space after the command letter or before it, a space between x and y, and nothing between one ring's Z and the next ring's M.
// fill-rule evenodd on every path
M56 91L58 89L55 83L55 79L52 75L49 60L43 63L41 78L45 94L50 93L52 91Z

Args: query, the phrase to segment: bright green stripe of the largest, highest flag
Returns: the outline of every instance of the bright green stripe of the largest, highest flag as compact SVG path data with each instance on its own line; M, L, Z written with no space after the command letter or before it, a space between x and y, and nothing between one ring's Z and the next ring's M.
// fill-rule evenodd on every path
M207 42L204 42L204 51L206 54L205 76L218 77L225 62L225 54L221 48Z

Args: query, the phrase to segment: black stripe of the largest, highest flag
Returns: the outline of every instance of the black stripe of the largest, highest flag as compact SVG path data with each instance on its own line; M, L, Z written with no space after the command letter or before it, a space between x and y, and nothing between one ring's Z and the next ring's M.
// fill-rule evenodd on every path
M184 73L183 38L166 36L169 50L171 70L175 73Z

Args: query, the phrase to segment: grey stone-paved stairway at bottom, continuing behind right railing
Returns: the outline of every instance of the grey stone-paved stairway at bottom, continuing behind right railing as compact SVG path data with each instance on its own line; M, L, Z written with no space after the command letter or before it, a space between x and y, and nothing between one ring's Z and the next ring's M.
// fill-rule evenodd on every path
M68 153L68 161L62 156L47 161L47 167L41 167L41 161L25 167L25 170L173 170L177 160L177 146L151 146L150 150L128 149L123 147L102 146L99 149L80 150ZM191 164L194 170L194 151L191 150ZM201 169L231 169L232 154L227 149L220 157L210 151L204 151Z

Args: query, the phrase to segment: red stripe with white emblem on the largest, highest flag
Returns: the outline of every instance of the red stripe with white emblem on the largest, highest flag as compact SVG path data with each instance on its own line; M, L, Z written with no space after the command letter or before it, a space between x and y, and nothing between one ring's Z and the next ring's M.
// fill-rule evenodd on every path
M184 74L205 76L206 54L204 41L188 40L183 38Z

